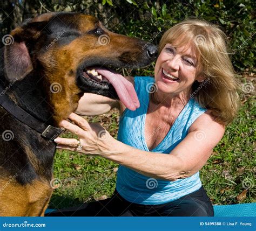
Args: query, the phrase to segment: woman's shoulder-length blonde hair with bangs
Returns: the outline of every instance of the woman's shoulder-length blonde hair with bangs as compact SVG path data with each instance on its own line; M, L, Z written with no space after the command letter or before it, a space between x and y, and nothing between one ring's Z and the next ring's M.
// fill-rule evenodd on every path
M211 110L217 122L231 123L238 113L240 99L225 33L217 25L188 19L164 33L159 53L166 43L177 47L192 44L198 58L197 75L203 75L205 80L193 83L191 96L201 107Z

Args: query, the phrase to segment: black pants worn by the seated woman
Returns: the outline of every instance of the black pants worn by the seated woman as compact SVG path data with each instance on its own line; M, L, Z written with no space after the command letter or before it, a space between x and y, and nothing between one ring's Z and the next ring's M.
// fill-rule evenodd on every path
M139 205L126 201L114 191L111 198L60 209L45 216L213 216L213 206L205 190L185 195L161 205Z

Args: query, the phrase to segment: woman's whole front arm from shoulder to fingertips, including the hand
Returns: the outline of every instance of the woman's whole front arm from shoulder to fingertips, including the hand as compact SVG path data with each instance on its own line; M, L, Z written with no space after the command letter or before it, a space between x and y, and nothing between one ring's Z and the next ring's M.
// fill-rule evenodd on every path
M88 123L76 114L71 114L69 118L77 125L68 121L62 121L60 125L78 135L83 149L77 150L76 139L66 138L55 140L58 148L99 155L145 176L170 181L190 177L198 172L225 131L223 125L205 113L191 125L183 141L166 155L132 148L111 137L99 124Z

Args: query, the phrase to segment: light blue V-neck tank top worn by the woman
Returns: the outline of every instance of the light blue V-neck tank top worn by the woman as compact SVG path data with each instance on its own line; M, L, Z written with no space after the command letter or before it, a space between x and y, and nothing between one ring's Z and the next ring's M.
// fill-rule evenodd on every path
M144 151L149 151L144 128L149 106L149 89L153 83L154 78L150 76L137 76L134 78L134 88L138 95L140 107L135 111L126 108L119 121L118 141ZM169 154L187 135L190 125L205 111L206 109L201 108L191 98L174 121L163 141L151 152L157 152L159 155L161 153ZM119 166L117 172L116 188L118 193L127 201L136 204L164 204L197 191L200 187L199 172L191 177L175 181L146 177L123 165Z

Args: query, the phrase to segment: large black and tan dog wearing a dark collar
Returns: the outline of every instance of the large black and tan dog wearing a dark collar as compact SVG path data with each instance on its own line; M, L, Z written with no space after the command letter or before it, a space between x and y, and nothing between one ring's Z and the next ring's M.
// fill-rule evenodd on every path
M84 93L119 99L113 85L87 70L144 67L156 59L157 47L75 12L28 19L9 39L0 62L0 216L43 216L59 122Z

